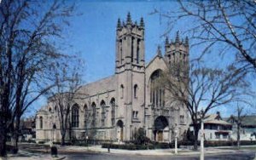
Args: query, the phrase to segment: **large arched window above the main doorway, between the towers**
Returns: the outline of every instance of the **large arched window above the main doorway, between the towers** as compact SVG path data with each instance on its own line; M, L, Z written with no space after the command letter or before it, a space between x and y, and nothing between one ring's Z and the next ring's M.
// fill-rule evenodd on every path
M150 77L150 102L154 107L165 106L165 89L160 87L160 70L156 70Z

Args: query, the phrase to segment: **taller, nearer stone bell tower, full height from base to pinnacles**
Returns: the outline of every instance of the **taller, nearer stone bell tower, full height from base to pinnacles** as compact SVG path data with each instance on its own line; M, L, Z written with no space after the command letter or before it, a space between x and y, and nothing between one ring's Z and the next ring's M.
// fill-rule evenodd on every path
M116 28L115 76L117 77L117 120L123 123L123 140L133 140L143 128L145 104L144 21L118 20Z

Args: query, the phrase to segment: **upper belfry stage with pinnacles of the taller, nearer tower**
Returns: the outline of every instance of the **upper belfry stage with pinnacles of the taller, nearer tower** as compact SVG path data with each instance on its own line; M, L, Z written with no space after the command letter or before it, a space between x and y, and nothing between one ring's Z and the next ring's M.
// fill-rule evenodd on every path
M116 28L116 60L115 73L125 70L144 71L144 21L131 20L127 14L126 22L118 20Z

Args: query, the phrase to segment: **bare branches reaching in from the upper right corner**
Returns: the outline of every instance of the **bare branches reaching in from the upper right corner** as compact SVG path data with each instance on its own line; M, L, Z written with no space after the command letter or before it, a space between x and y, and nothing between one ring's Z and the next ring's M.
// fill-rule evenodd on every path
M176 4L176 3L175 3ZM256 71L256 2L253 0L181 1L177 9L154 10L167 19L167 34L179 24L192 39L191 47L203 49L203 54L232 54L234 63ZM194 40L194 41L193 41ZM200 57L201 58L201 57ZM238 62L238 63L237 63Z

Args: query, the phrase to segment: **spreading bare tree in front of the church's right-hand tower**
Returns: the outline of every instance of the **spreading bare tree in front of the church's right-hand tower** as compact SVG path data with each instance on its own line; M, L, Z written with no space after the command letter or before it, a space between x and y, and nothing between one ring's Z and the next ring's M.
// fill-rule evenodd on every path
M207 112L240 100L240 96L246 93L243 90L247 87L243 81L244 74L231 66L224 71L203 67L198 63L189 67L183 63L172 63L161 75L160 85L169 92L167 98L170 105L184 106L189 111L195 130L195 150L199 123Z

